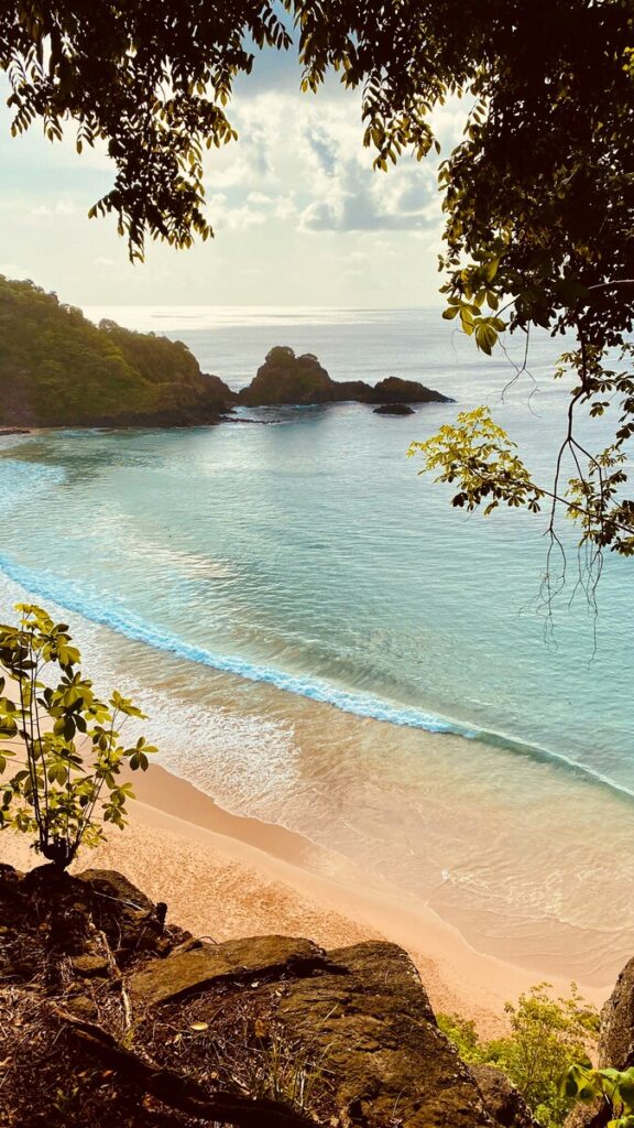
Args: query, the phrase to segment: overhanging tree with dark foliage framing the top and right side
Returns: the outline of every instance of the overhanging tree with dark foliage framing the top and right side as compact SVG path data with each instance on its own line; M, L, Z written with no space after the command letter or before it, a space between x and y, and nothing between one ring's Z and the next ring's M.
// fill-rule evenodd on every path
M203 147L236 134L226 114L234 79L254 50L297 39L305 90L334 69L362 90L363 141L387 170L404 152L439 149L432 109L468 103L465 138L443 160L449 318L491 353L500 333L570 332L569 425L554 482L519 494L496 477L501 450L468 421L465 442L439 443L440 476L457 504L539 508L548 494L552 544L563 503L596 552L634 550L634 503L624 497L625 444L634 434L634 382L609 359L631 359L634 300L634 10L632 0L23 0L0 15L0 67L12 86L14 130L41 118L51 140L77 123L78 148L107 142L114 212L132 258L143 240L190 246L203 213ZM287 23L293 24L292 35ZM520 367L521 370L521 367ZM614 442L579 442L580 407L616 409ZM470 435L470 438L469 438ZM468 440L468 441L467 441ZM505 439L502 439L502 443ZM484 442L486 467L474 467ZM565 458L573 484L565 481ZM520 464L521 465L521 464ZM507 467L508 468L508 467ZM483 487L473 488L482 470ZM469 484L470 479L470 484Z

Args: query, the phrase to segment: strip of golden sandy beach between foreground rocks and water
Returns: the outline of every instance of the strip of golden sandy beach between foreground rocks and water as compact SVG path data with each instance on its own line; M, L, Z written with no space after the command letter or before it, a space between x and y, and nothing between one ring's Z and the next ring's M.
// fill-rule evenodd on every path
M191 784L152 765L134 776L130 827L109 832L74 865L123 872L169 918L217 941L276 933L309 936L325 948L388 938L411 954L437 1011L474 1019L485 1036L504 1028L504 1003L545 977L529 967L475 951L460 933L387 883L370 883L353 866L281 827L223 811ZM3 836L5 862L28 869L27 841ZM547 976L565 994L570 977ZM600 1005L611 984L579 980Z

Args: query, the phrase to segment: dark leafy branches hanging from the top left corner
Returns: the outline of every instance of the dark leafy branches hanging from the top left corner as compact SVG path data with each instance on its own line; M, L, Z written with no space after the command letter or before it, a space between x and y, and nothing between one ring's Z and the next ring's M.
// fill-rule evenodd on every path
M79 153L106 146L115 182L89 214L116 217L132 262L146 235L190 247L213 233L203 152L237 136L224 112L234 79L250 71L254 47L288 43L275 6L259 0L3 5L11 132L38 120L59 141L72 120Z

